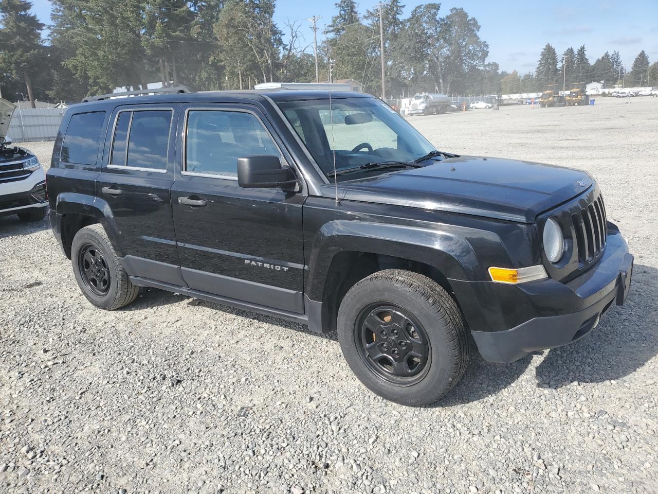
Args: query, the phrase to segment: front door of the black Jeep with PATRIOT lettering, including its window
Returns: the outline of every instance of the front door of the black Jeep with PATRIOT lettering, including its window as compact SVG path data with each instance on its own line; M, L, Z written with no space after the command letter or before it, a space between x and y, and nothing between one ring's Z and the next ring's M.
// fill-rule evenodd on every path
M181 272L195 290L303 313L301 193L241 188L238 157L290 156L252 105L191 104L171 190Z

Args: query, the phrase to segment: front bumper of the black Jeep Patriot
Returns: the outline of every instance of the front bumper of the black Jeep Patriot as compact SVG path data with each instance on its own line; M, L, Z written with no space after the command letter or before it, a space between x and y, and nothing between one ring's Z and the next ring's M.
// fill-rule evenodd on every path
M613 302L624 303L634 258L617 228L611 223L608 227L601 259L569 283L552 279L521 285L476 282L485 284L475 291L491 324L486 327L489 331L481 331L470 321L469 325L477 328L471 333L485 360L514 362L535 350L578 341L597 327ZM495 310L501 314L493 314Z

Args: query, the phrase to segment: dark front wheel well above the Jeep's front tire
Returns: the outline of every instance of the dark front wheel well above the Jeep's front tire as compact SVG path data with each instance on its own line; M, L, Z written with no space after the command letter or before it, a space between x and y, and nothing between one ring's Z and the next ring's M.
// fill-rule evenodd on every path
M338 308L343 297L357 282L383 269L405 269L425 275L445 289L453 298L455 292L443 273L436 267L394 256L370 252L343 251L334 256L329 267L322 299L322 326L324 331L336 330Z

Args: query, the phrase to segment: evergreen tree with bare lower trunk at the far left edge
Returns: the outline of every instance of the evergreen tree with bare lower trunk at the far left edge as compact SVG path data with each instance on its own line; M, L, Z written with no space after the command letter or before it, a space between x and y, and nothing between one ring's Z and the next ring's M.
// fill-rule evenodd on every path
M25 82L32 108L34 88L32 80L43 68L45 49L41 45L41 31L45 27L31 14L32 3L25 0L0 1L0 67Z

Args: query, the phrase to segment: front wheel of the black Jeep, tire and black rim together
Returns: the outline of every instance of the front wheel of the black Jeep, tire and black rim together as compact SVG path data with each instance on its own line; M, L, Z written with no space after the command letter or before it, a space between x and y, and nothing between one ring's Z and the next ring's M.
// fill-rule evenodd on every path
M345 360L361 383L399 404L436 402L467 368L470 346L457 303L412 271L386 269L356 283L343 298L337 327Z

